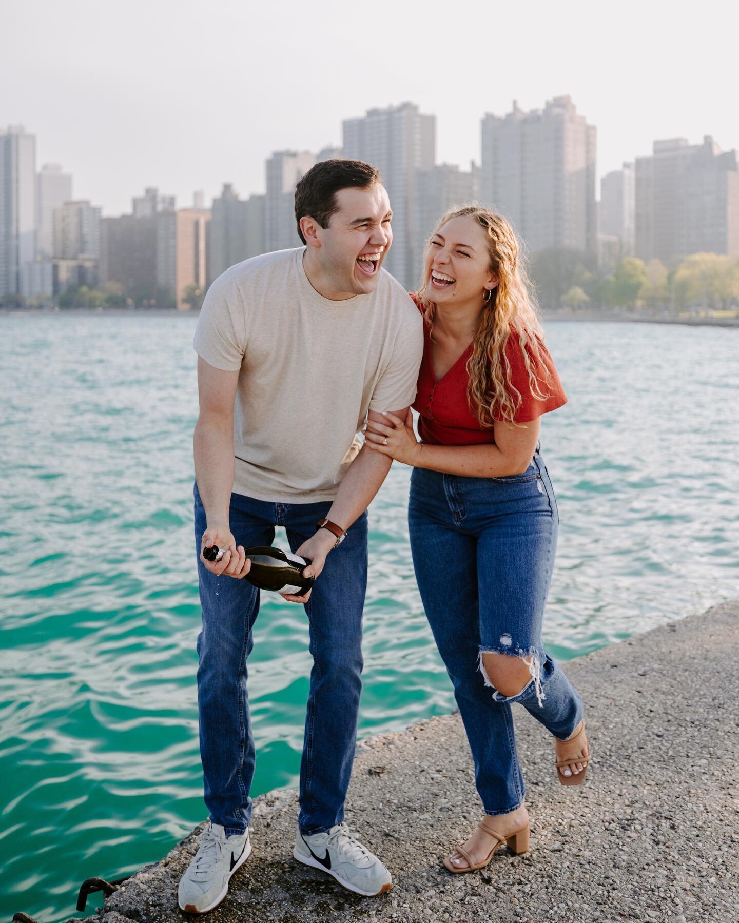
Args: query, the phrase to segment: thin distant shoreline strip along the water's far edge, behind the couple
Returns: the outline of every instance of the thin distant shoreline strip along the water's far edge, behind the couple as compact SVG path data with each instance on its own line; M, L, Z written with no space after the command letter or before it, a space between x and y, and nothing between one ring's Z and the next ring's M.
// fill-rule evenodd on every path
M97 317L129 318L194 318L198 311L178 311L168 307L67 307L55 311L52 308L9 308L0 307L0 317L80 317L93 315ZM612 314L611 312L578 312L569 311L542 311L545 323L563 321L564 323L583 323L594 321L610 324L672 324L681 327L733 327L739 328L737 318L664 318L636 316L631 314Z

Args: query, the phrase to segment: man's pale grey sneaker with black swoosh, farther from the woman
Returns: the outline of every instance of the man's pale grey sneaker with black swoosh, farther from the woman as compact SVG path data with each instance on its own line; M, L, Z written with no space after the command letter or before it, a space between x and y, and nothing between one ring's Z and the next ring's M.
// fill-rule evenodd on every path
M180 910L207 914L217 907L228 893L229 879L250 855L248 828L241 835L226 836L220 824L209 824L196 857L179 881Z

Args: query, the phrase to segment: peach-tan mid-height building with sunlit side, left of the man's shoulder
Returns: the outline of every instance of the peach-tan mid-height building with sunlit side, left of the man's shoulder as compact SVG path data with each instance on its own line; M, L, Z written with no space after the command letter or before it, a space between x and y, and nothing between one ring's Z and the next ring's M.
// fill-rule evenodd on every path
M200 209L160 211L156 216L156 277L160 296L187 310L188 288L207 284L206 237L211 213Z

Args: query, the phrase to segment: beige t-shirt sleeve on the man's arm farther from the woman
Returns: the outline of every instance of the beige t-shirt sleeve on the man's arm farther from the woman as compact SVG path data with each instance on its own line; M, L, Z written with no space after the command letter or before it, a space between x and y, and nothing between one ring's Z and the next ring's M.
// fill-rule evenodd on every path
M245 348L243 304L238 285L227 272L208 289L192 345L209 366L224 372L241 368Z

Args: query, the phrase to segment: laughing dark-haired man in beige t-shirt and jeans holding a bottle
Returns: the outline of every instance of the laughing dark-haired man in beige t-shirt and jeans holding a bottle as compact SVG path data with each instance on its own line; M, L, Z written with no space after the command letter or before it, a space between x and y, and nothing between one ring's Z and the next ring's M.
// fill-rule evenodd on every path
M316 164L296 189L306 245L248 259L209 290L195 334L195 533L202 631L200 756L210 825L180 881L179 905L207 913L251 851L254 740L246 661L260 594L243 578L244 549L285 526L311 559L308 714L294 857L345 888L392 886L382 862L345 827L357 734L367 507L390 461L361 446L366 418L405 418L416 394L421 318L382 270L392 213L378 171L348 160ZM202 549L227 548L211 563Z

